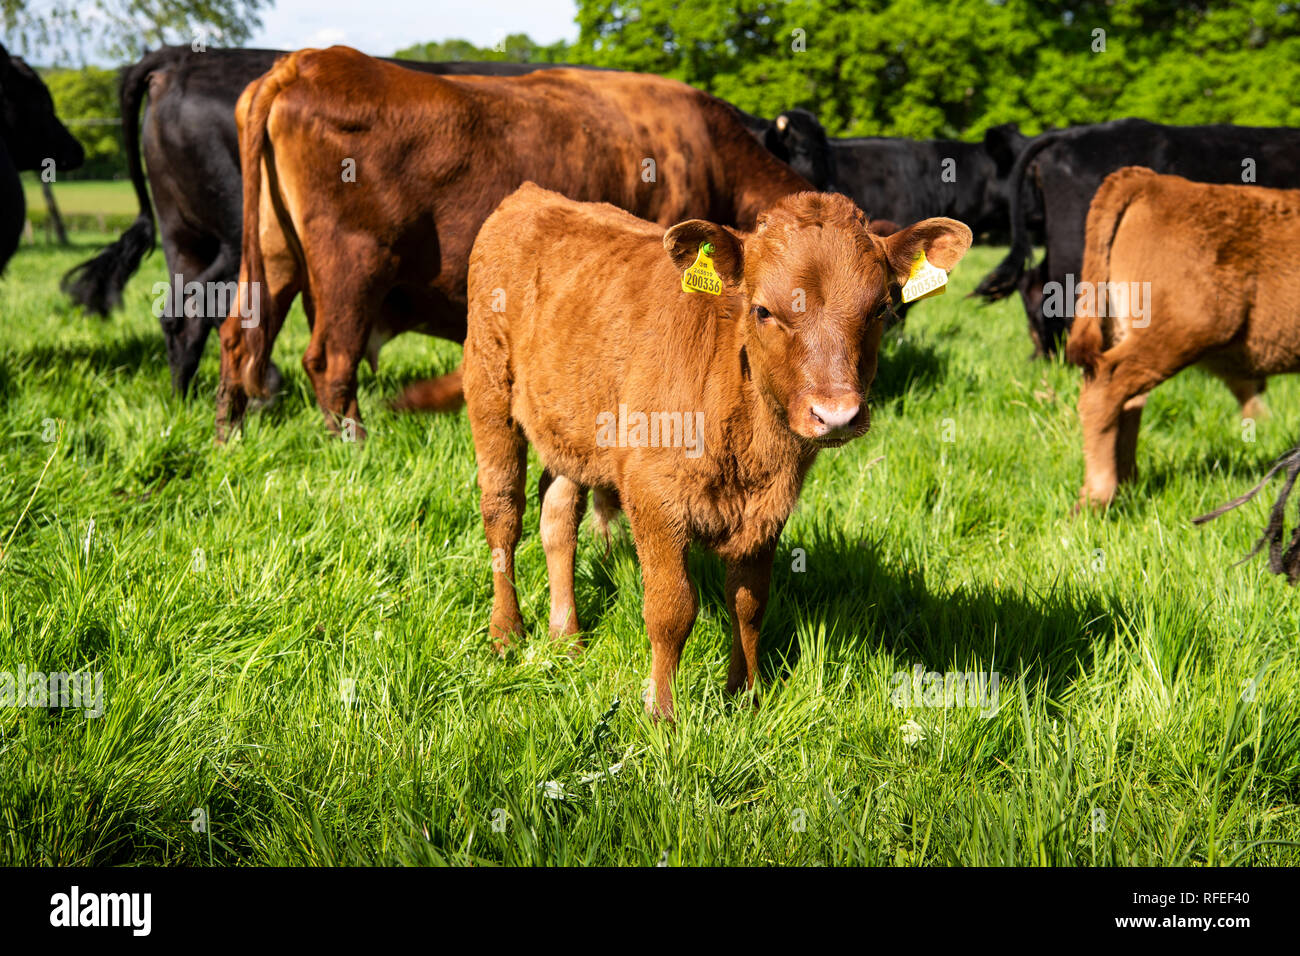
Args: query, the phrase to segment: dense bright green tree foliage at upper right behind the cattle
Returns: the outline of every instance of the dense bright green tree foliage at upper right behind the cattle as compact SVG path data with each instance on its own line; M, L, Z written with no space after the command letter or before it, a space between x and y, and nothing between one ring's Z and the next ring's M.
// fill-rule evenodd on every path
M578 0L577 22L575 62L677 77L763 116L805 107L836 135L1300 125L1300 13L1277 0Z

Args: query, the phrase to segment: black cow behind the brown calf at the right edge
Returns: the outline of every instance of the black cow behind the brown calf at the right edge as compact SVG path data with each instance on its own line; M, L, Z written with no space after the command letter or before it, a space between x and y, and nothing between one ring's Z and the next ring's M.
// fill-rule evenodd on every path
M1054 354L1070 330L1060 293L1083 265L1088 203L1106 174L1127 165L1197 182L1294 189L1300 186L1300 129L1114 120L1044 133L1030 143L1010 176L1011 251L974 294L993 302L1020 293L1035 356ZM1026 268L1034 252L1027 195L1041 203L1046 245L1034 269Z

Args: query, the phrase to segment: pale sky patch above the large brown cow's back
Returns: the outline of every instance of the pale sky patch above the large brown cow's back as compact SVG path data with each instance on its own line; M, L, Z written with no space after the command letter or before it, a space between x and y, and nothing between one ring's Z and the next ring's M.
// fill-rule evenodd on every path
M577 39L573 0L276 0L250 47L298 49L344 43L390 56L412 43L467 39L488 47L507 34L538 43Z

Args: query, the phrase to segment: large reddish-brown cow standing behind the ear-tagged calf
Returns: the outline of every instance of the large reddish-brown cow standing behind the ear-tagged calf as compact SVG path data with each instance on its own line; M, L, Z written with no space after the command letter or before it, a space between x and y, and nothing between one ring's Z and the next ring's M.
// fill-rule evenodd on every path
M222 326L218 440L248 394L264 394L299 291L313 324L303 365L335 428L360 420L356 368L373 367L385 341L406 330L463 341L469 248L524 181L666 226L690 216L749 226L809 189L734 108L636 73L436 77L347 47L307 49L250 85L237 120L240 282L259 294ZM250 304L260 315L246 319ZM451 401L458 378L410 403Z

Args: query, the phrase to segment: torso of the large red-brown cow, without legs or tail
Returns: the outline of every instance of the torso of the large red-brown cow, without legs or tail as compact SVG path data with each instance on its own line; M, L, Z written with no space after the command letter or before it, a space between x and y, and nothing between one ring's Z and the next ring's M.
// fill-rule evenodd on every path
M727 104L660 77L439 77L334 47L285 57L272 79L268 133L295 229L329 216L365 232L402 259L399 281L436 277L451 300L464 300L478 228L525 181L664 226L736 221L748 181L766 183L763 204L806 187ZM437 250L441 268L403 255L413 248Z

